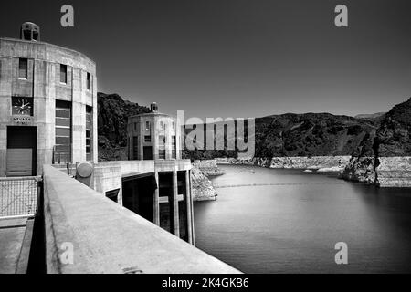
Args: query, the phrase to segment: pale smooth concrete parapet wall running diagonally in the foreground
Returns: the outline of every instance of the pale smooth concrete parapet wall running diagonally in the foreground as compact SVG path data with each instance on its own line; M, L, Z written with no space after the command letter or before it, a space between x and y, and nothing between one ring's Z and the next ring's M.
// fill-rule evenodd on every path
M47 273L239 273L47 165L44 210Z

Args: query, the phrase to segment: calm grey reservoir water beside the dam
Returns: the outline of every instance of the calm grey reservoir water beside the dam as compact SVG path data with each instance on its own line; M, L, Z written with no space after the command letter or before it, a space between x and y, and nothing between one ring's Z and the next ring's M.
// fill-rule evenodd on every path
M195 203L195 245L245 273L411 272L411 190L331 173L222 165ZM348 246L348 265L334 260Z

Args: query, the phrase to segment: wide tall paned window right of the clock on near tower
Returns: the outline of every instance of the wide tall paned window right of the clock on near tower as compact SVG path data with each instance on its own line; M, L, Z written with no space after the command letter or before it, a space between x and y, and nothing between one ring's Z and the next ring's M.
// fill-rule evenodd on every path
M71 162L71 104L56 100L54 163Z

